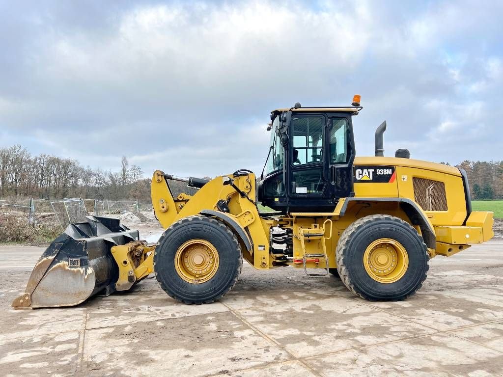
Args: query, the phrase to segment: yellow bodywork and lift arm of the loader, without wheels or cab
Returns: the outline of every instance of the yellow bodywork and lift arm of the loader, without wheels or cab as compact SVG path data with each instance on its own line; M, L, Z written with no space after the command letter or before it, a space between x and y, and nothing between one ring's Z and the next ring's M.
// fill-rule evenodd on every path
M279 217L270 217L267 213L261 215L251 202L256 200L255 176L239 177L237 180L240 189L249 192L251 201L241 198L231 186L222 188L223 176L216 177L204 185L194 197L181 194L178 198L173 198L166 189L167 185L160 171L156 171L152 178L152 204L159 222L164 228L168 228L173 222L197 215L204 210L218 211L215 207L218 200L229 201L231 212L222 213L221 216L236 220L249 240L253 240L253 249L244 253L243 257L257 269L277 266L274 255L269 251L269 231L280 223L289 223L294 234L317 224L324 232L322 243L328 250L328 267L336 268L334 253L339 237L356 219L379 213L393 215L412 224L400 207L400 199L412 201L433 229L436 243L435 247L429 247L430 257L437 254L450 256L493 237L491 212L471 212L467 217L463 180L458 169L426 161L389 157L360 157L355 160L355 169L359 166L394 166L396 174L392 181L388 182L355 182L355 196L340 200L330 213L293 212ZM417 178L444 183L445 194L440 194L447 202L445 211L423 209L414 201L415 195L420 194L417 188L414 192L413 182ZM341 214L343 208L344 214ZM243 220L244 215L246 221ZM420 226L416 227L421 232ZM293 242L294 256L298 257L305 253L306 247L313 253L323 249L321 242L312 242L308 246L304 243L303 247L299 237L294 237ZM324 267L323 263L323 260L320 263L308 262L307 267ZM301 263L294 261L288 261L287 264L302 267Z

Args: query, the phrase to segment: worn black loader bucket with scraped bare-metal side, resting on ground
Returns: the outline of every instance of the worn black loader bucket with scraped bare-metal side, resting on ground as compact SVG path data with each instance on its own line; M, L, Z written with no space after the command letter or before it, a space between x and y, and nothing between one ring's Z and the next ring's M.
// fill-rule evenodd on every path
M110 249L139 239L137 230L118 219L87 216L69 225L44 251L14 308L78 305L90 297L115 291L119 267Z

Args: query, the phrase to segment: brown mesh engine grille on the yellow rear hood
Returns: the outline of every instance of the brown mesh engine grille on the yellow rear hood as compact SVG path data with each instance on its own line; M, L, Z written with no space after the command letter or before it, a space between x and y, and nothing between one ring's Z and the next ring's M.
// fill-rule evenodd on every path
M414 200L424 211L447 211L444 182L412 177Z

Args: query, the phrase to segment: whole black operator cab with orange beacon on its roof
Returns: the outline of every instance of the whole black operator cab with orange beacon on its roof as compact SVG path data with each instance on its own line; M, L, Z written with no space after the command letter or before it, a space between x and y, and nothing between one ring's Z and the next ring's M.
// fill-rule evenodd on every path
M353 196L355 142L352 116L362 107L271 112L271 143L258 184L263 205L283 213L331 212Z

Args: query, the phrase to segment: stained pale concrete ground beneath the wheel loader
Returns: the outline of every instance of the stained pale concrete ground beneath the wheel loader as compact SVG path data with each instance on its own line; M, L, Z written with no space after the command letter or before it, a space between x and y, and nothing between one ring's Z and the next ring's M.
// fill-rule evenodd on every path
M501 241L434 258L404 302L367 302L334 277L245 264L210 305L177 303L147 279L73 308L13 310L42 251L0 246L2 376L503 374Z

